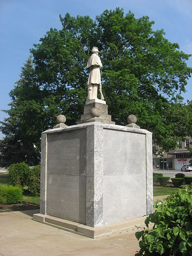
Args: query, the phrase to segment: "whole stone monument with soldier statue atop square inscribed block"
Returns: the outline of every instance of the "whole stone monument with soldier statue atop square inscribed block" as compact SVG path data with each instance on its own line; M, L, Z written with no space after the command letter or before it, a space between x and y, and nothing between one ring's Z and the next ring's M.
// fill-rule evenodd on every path
M41 205L33 218L97 238L153 212L152 135L134 115L126 126L111 121L106 102L97 98L98 48L92 53L81 121L67 126L60 116L42 133Z

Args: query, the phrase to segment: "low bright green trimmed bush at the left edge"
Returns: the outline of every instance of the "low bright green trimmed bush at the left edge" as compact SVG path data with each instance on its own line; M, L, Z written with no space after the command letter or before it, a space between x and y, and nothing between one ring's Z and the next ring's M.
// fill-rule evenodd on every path
M5 186L0 188L0 204L17 204L22 201L22 189L19 187Z

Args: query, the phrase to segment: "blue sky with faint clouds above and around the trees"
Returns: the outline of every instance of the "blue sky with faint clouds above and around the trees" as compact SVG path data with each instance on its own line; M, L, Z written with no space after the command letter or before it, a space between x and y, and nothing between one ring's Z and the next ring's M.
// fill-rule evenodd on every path
M192 53L192 0L0 0L0 109L8 109L9 92L19 79L29 49L52 27L61 29L59 14L89 15L95 19L105 9L129 10L136 18L148 15L153 29L164 29L165 37ZM192 67L192 57L187 62ZM192 99L192 78L185 99ZM7 117L0 111L0 120ZM3 135L0 134L0 139Z

